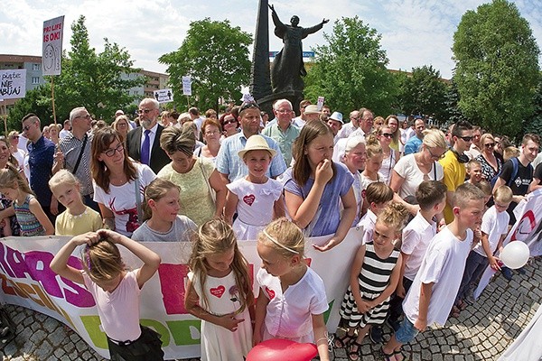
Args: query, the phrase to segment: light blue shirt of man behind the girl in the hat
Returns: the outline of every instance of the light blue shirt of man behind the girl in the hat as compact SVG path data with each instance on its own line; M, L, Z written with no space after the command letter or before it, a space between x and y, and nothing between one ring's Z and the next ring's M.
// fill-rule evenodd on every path
M276 150L276 156L273 157L266 175L271 178L276 178L286 170L285 159L280 152L278 144L266 135L262 135L269 145L269 148ZM224 139L220 144L220 151L217 154L216 168L222 174L228 174L230 182L245 177L248 174L247 165L238 156L238 152L245 149L247 137L243 132L234 134Z

